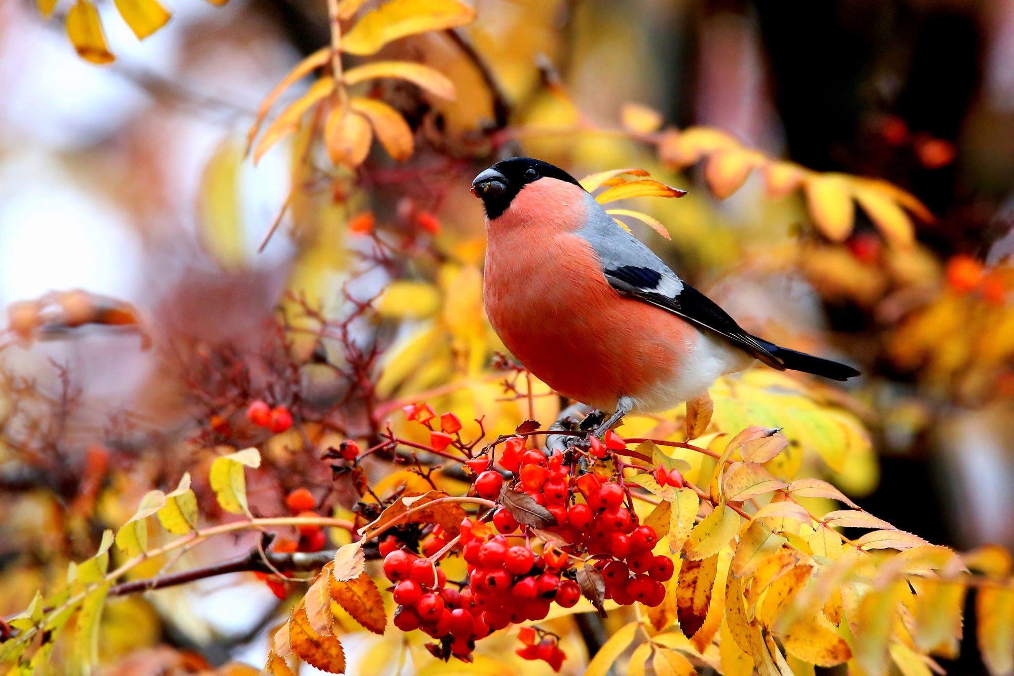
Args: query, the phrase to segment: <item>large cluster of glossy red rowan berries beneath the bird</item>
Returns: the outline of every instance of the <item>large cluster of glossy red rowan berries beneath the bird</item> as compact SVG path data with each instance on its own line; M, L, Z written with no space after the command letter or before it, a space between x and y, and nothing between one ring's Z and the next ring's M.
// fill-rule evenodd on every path
M611 432L601 441L591 437L588 451L572 448L550 456L525 449L520 436L511 437L499 457L500 466L510 472L506 480L492 469L489 457L468 460L479 472L476 494L502 503L492 515L495 530L482 520L461 523L458 546L468 578L454 583L457 589L447 586L436 565L450 543L442 529L423 540L425 557L397 549L392 538L384 539L384 572L396 583L394 624L407 631L421 628L440 639L430 645L438 657L467 660L475 641L490 631L545 619L553 603L571 608L582 592L594 603L662 603L664 583L673 574L672 559L652 553L658 535L639 524L621 471L614 470L611 480L598 473L606 465L595 463L622 449L625 442ZM673 477L664 473L663 478L669 484L682 482L678 472ZM532 548L532 540L545 544ZM604 599L601 591L595 592L599 576ZM589 589L582 590L583 585ZM522 643L518 655L544 660L559 671L565 656L553 635L525 629Z

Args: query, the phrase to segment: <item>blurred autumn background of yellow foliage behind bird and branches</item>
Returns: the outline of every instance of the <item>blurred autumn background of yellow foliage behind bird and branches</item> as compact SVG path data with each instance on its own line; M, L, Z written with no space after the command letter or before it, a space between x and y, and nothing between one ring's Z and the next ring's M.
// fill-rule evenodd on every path
M299 485L351 506L299 450L387 420L412 438L405 404L469 436L474 417L552 420L561 402L499 366L482 311L467 187L512 154L687 190L612 206L661 223L671 239L622 218L747 330L864 373L724 379L714 431L785 427L785 462L899 528L1014 545L1014 1L445 3L458 27L376 54L354 39L269 109L332 44L328 3L212 4L0 6L0 612L209 447L265 442L239 419L251 397L304 423L271 441L265 513ZM347 28L362 4L336 5ZM327 82L378 60L433 71ZM679 415L620 431L681 438ZM210 582L111 604L103 650L259 663L274 599Z

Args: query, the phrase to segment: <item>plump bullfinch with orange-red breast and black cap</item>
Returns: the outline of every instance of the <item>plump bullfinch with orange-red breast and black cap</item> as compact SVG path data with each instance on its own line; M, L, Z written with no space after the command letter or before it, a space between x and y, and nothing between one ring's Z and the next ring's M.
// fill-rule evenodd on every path
M759 359L844 381L859 371L751 336L681 280L569 174L497 162L486 207L486 313L511 353L558 393L603 412L665 411Z

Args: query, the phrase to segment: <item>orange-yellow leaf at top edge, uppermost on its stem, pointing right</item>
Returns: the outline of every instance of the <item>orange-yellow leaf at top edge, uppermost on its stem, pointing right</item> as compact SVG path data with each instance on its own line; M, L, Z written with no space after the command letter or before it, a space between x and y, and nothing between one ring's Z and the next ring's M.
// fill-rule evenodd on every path
M366 56L387 43L470 23L476 10L457 0L389 0L364 15L342 39L342 51Z

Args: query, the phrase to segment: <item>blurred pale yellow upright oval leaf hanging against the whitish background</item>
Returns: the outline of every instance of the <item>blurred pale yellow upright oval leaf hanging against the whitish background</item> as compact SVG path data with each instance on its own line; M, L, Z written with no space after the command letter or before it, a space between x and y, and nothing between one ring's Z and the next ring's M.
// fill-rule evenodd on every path
M237 271L246 262L239 170L242 148L231 138L219 143L201 180L201 245L223 269Z

